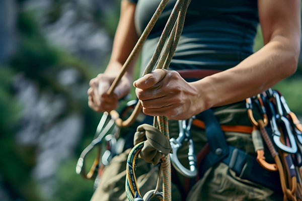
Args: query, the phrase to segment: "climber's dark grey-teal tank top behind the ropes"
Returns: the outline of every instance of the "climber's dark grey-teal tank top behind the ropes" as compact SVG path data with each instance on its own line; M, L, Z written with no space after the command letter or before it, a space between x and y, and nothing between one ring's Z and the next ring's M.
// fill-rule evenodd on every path
M140 35L160 0L128 0L136 5L135 27ZM142 48L141 68L152 57L176 3L170 0ZM192 0L169 69L218 69L236 66L253 53L259 24L257 0Z

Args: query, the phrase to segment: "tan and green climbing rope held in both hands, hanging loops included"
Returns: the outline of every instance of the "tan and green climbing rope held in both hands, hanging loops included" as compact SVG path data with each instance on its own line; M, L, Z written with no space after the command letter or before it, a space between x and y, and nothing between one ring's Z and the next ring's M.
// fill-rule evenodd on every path
M191 0L178 0L175 4L174 9L167 21L167 24L163 30L163 33L160 37L159 43L157 45L156 51L148 63L147 67L144 70L142 76L152 72L155 68L160 69L164 68L167 69L171 63L172 57L175 53L176 47L178 45L180 35L183 30L185 16L187 12L187 8L190 4ZM143 42L146 40L148 34L154 27L154 24L158 20L160 14L164 10L165 6L167 5L167 0L162 0L160 3L157 11L155 12L153 18L148 23L147 27L145 28L144 32L142 33L141 37L139 38L138 42L136 43L134 49L132 50L130 56L126 60L125 64L123 65L119 76L114 80L113 84L108 90L108 94L111 95L114 88L117 86L118 82L120 81L123 74L126 72L129 64L136 56L137 52L141 48ZM136 105L133 113L128 118L128 120L122 122L121 120L116 121L116 124L120 127L127 127L128 125L132 124L135 118L137 117L139 111L141 110L140 102ZM169 140L169 129L168 129L168 119L166 117L154 117L154 127L159 129L159 135L164 134L166 138ZM131 150L128 160L127 160L127 176L126 176L126 192L127 197L129 200L143 200L141 198L136 178L135 178L135 167L136 167L136 159L138 157L138 153L144 146L144 141L138 143L133 147ZM160 150L161 151L161 150ZM161 158L161 170L163 171L163 200L170 201L171 200L171 162L169 154L163 155ZM160 170L160 171L161 171ZM159 177L160 179L160 177ZM158 182L159 183L159 182ZM158 193L157 189L154 190L153 195L155 196ZM160 193L161 194L161 193ZM161 195L158 195L161 197ZM149 198L147 197L147 198ZM145 197L144 197L145 198Z

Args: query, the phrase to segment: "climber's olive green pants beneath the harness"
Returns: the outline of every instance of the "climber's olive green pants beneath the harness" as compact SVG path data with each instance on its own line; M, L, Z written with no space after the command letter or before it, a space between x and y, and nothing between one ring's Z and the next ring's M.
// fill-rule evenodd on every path
M214 108L213 111L220 124L251 126L244 102ZM179 133L177 121L169 122L169 132L171 138L177 138ZM197 154L206 144L206 135L204 130L194 126L191 128L191 134L194 141L195 154ZM224 134L228 144L255 155L250 134L237 132L225 132ZM125 179L126 161L129 151L127 150L114 157L110 164L106 166L101 183L96 189L91 199L92 201L127 200ZM188 145L184 144L178 150L178 158L188 168L187 153ZM155 189L158 171L158 166L148 164L141 159L138 160L135 174L142 195L148 190ZM184 176L180 173L177 173L177 176L181 185L172 184L173 201L182 200L180 188L184 188ZM229 166L224 163L218 163L209 168L204 176L195 183L189 191L186 200L282 200L282 192L273 192L269 188L241 179L236 176L236 173Z

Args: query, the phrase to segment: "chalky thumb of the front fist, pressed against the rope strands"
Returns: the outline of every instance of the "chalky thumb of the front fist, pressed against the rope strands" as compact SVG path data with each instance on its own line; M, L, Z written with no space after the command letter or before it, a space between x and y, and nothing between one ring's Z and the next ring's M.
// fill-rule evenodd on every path
M137 79L133 82L133 86L140 89L146 89L160 82L167 74L166 69L155 69L149 74Z

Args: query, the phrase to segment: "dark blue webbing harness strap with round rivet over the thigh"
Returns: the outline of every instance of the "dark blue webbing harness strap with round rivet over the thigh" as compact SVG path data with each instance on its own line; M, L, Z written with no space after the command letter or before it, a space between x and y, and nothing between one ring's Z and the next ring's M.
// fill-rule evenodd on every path
M279 173L264 169L259 165L256 157L243 150L226 143L219 122L211 110L207 110L196 116L205 124L205 132L209 145L209 152L199 166L199 178L206 170L218 162L228 165L236 176L266 186L276 192L282 192Z

